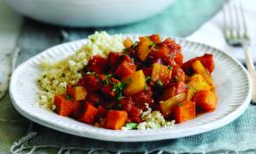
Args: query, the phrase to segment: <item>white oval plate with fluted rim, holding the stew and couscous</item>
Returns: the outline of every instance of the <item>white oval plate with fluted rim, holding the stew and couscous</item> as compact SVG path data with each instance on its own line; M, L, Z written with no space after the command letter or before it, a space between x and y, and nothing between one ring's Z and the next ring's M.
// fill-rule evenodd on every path
M134 36L133 38L136 38ZM219 103L214 112L203 114L186 123L151 130L108 130L64 118L37 106L38 63L43 58L60 59L74 53L87 40L54 46L22 63L12 74L10 95L15 109L30 120L55 130L78 136L115 142L144 142L174 139L225 126L238 118L251 101L252 85L246 69L227 53L213 47L177 38L182 45L185 60L203 53L214 54L215 70L212 74L217 85Z

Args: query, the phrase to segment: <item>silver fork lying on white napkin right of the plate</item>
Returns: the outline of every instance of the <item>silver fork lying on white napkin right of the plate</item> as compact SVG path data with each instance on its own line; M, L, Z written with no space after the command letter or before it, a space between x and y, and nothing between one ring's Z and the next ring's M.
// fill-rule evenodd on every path
M225 4L223 8L224 16L224 36L227 44L235 47L243 47L245 54L245 63L252 78L252 104L256 104L256 77L255 68L248 50L250 37L244 17L244 8L240 1L235 1L234 4Z

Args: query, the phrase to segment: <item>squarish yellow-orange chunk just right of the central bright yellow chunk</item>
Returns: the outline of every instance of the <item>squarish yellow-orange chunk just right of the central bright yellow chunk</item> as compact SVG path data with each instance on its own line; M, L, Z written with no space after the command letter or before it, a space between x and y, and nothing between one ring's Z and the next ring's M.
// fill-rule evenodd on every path
M162 85L168 85L169 80L171 78L171 69L167 66L154 63L153 64L153 72L152 72L152 80L153 82L161 81Z

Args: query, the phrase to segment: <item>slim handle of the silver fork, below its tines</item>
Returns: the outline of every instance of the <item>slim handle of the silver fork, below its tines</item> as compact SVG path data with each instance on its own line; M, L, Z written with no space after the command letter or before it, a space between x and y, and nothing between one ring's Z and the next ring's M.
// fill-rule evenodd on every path
M252 62L252 56L249 52L246 42L243 43L244 53L245 53L245 62L248 69L249 75L252 79L252 104L256 104L256 77L255 77L255 68Z

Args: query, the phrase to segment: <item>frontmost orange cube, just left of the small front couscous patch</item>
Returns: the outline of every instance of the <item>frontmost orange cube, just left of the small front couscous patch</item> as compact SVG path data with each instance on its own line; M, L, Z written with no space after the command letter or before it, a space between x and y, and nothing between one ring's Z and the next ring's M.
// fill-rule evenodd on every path
M105 127L109 129L120 129L125 126L128 120L128 113L125 110L109 110L107 113Z

